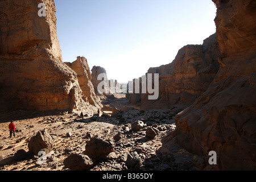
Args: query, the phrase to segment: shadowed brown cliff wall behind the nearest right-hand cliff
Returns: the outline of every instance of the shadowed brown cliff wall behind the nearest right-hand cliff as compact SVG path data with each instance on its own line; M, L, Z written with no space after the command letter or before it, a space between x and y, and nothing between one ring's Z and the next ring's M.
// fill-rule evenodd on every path
M218 56L216 34L205 39L203 45L184 46L172 63L148 69L147 73L159 73L158 100L148 100L148 94L129 94L130 103L141 101L143 110L185 109L213 81L219 67Z

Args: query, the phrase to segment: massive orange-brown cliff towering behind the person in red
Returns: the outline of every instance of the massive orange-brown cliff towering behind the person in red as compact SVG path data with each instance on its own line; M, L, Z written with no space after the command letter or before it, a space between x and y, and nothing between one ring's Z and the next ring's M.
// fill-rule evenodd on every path
M0 2L1 109L70 110L89 105L77 75L62 62L55 3L38 16L38 1Z

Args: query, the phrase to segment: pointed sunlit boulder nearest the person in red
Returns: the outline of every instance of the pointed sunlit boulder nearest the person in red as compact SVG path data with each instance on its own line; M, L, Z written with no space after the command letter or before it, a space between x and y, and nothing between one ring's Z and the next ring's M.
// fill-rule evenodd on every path
M52 147L53 139L47 129L39 130L28 142L28 150L34 155L38 155L39 151L44 151L48 154L52 151Z

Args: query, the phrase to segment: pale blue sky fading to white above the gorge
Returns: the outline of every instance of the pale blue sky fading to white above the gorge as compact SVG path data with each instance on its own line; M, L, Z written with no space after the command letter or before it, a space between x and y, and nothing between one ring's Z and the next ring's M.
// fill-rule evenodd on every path
M169 64L216 32L210 0L55 0L64 62L84 56L120 83Z

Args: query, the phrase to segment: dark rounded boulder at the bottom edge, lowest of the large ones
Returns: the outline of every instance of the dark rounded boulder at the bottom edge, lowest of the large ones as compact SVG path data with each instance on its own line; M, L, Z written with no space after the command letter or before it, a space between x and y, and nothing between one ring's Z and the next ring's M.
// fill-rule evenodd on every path
M87 155L71 154L64 160L64 166L73 171L85 171L93 166L92 160Z

